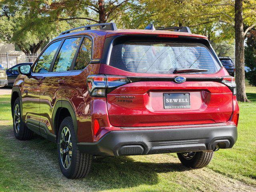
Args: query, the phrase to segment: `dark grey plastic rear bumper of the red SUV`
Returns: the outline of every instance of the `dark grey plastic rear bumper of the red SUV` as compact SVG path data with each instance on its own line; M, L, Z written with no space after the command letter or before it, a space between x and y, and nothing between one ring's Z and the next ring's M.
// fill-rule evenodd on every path
M82 153L108 156L146 155L232 148L237 140L234 125L151 130L116 130L98 142L80 142Z

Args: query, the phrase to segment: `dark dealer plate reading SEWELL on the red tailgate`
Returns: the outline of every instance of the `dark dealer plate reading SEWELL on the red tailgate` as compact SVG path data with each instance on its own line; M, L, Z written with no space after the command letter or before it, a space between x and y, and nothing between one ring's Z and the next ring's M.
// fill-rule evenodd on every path
M164 93L165 109L190 108L189 93Z

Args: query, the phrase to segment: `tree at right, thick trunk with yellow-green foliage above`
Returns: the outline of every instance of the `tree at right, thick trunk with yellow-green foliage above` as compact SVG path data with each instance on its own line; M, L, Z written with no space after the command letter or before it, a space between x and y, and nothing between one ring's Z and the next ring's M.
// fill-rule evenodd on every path
M248 31L256 26L255 0L205 0L202 17L212 17L226 24L235 32L237 100L248 102L245 92L244 39ZM244 25L248 26L244 28Z

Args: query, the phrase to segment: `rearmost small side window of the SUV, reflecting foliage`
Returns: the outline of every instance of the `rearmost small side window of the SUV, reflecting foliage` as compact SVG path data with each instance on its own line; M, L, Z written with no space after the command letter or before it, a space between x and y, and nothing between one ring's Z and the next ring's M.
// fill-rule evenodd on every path
M84 38L84 41L79 50L74 70L84 69L90 64L92 58L92 41L89 38Z

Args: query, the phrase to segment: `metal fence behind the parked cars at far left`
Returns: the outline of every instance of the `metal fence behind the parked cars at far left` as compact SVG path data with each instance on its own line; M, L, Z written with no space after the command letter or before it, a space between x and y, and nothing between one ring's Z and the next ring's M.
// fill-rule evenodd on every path
M37 58L36 54L9 54L6 52L6 54L0 53L0 64L8 69L12 66L19 64L19 63L25 63L25 62L34 62Z

